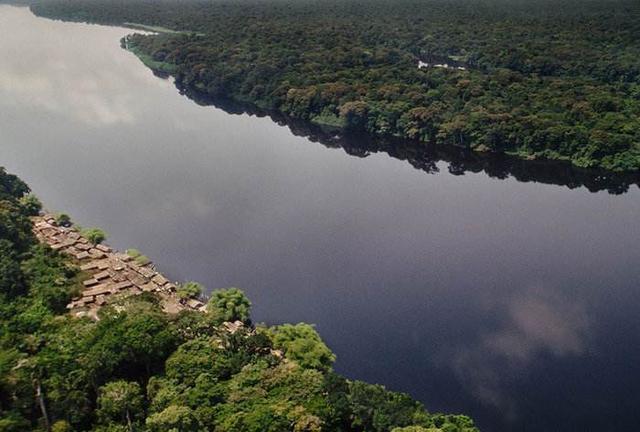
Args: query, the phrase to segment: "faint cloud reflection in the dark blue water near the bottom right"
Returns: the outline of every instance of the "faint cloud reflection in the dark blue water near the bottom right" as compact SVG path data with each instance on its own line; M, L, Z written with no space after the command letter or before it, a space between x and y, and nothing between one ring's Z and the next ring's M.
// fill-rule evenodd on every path
M459 347L452 364L459 381L479 401L515 419L517 395L509 388L545 355L585 354L589 319L580 300L543 288L512 297L496 313L501 324L481 334L475 345Z

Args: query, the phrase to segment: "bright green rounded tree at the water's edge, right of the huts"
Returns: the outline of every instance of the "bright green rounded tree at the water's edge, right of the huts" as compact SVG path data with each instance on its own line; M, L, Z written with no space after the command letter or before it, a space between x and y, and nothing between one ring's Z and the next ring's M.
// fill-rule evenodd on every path
M269 331L273 346L285 352L304 368L329 370L336 356L325 345L313 326L284 324Z

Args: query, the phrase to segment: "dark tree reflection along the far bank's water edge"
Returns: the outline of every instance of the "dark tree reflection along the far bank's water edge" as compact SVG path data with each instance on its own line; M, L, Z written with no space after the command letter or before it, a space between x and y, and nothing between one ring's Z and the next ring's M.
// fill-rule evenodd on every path
M155 73L160 78L168 78L164 73ZM305 137L311 142L328 148L341 148L347 154L367 157L374 153L407 161L415 169L429 174L441 171L439 162L448 164L447 171L453 175L467 172L483 172L496 179L514 178L520 182L535 182L569 189L585 187L590 192L607 191L622 195L630 187L640 187L640 173L613 173L605 170L584 169L562 161L524 160L508 155L478 153L454 146L436 146L398 138L379 138L365 134L337 133L308 121L294 119L281 113L259 109L251 104L214 98L195 89L176 84L181 94L201 106L214 106L229 114L249 114L269 117L281 126L287 126L295 136Z

